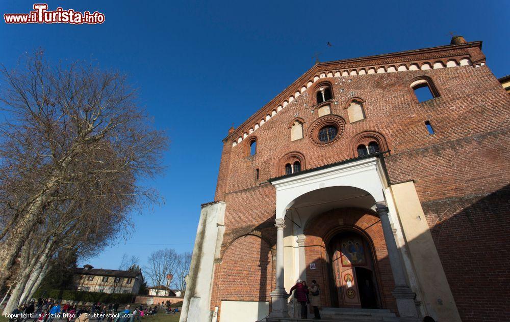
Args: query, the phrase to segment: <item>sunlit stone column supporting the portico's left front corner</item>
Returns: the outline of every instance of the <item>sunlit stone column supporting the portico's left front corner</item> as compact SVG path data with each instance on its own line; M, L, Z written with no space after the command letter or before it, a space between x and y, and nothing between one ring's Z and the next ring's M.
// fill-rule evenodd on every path
M289 317L287 313L287 299L289 295L284 287L284 228L285 219L276 218L276 286L270 293L270 317Z

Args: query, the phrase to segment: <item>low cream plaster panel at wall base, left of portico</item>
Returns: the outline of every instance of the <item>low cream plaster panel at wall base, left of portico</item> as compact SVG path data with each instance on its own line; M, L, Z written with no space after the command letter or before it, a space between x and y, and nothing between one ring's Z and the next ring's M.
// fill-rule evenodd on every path
M221 322L254 322L269 315L269 302L221 301Z

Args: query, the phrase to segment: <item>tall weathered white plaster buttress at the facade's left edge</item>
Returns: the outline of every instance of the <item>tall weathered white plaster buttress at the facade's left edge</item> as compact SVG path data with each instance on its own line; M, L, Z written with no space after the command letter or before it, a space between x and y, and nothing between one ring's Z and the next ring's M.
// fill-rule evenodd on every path
M224 216L224 202L202 207L180 322L211 321L210 302L214 259L223 240Z

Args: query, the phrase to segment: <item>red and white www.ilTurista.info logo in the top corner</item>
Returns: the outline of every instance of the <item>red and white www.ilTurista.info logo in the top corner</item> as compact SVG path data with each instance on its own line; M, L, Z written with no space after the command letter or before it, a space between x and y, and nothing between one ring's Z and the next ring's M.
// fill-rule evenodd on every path
M34 4L34 11L30 13L4 13L6 23L72 23L95 24L105 22L105 15L95 11L79 12L72 9L64 10L60 7L55 11L47 11L47 4Z

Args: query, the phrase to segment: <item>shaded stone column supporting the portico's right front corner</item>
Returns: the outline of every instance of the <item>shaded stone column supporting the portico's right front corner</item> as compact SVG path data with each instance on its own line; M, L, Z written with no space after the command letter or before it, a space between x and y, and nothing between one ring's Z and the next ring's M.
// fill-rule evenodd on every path
M377 202L377 215L381 220L382 232L388 249L388 258L390 259L391 271L395 280L395 289L392 294L397 302L398 314L401 317L418 318L418 311L414 299L416 297L413 290L407 284L403 263L398 253L397 243L391 228L390 218L388 217L388 207L385 202Z

